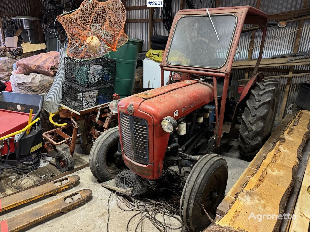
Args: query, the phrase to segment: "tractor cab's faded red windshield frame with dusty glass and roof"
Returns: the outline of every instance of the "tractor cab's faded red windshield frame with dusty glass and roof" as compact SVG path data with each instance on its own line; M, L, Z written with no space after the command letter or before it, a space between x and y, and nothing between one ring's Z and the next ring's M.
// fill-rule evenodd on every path
M252 6L180 10L160 66L166 71L225 77L244 24L257 24L266 32L267 17Z

